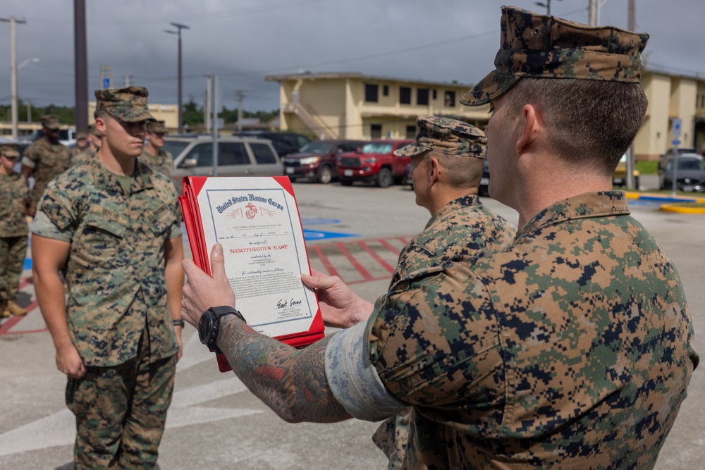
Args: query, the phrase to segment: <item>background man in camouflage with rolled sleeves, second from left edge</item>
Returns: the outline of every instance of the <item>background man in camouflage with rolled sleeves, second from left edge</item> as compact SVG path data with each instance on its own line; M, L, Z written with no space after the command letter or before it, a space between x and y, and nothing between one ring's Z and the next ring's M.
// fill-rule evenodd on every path
M47 183L71 167L71 150L59 142L59 116L42 116L42 131L44 137L27 147L22 156L22 174L27 179L35 178L30 192L30 216L34 216Z

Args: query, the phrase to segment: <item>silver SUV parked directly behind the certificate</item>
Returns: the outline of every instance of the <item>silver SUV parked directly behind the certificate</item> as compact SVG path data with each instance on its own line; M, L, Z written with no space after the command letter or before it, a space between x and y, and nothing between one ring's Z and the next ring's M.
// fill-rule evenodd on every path
M181 192L184 176L213 175L213 137L166 137L164 149L174 157L174 184ZM219 176L280 176L283 166L269 140L219 137Z

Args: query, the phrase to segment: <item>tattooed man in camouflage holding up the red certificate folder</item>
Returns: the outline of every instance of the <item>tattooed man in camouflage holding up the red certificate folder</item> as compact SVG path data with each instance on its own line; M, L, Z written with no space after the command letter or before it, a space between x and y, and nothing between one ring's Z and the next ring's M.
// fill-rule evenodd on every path
M413 407L403 469L650 469L699 357L675 266L611 190L646 113L647 36L502 11L497 70L464 102L493 109L489 192L517 210L515 240L410 273L304 350L235 314L216 345L290 422ZM212 261L212 277L184 261L192 325L235 307L221 245ZM338 278L302 280L336 323L356 319Z

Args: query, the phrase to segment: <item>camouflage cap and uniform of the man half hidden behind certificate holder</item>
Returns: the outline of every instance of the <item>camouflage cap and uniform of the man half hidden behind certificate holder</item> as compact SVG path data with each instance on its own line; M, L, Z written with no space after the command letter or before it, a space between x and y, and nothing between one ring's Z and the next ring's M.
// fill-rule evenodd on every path
M487 139L473 125L450 118L419 116L417 127L416 142L398 149L395 155L415 156L433 150L484 159ZM402 249L389 290L417 271L469 258L484 249L500 249L513 240L515 232L514 225L487 209L477 194L455 199L431 216L426 228ZM401 466L410 413L412 410L386 419L374 435L374 442L389 458L389 469Z

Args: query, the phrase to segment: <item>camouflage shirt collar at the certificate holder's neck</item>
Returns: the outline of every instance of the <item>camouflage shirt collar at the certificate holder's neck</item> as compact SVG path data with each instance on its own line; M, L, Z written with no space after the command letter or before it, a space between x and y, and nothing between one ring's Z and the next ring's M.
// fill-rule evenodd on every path
M539 228L577 218L626 216L629 206L624 191L586 192L539 211L522 228L517 230L517 238Z

